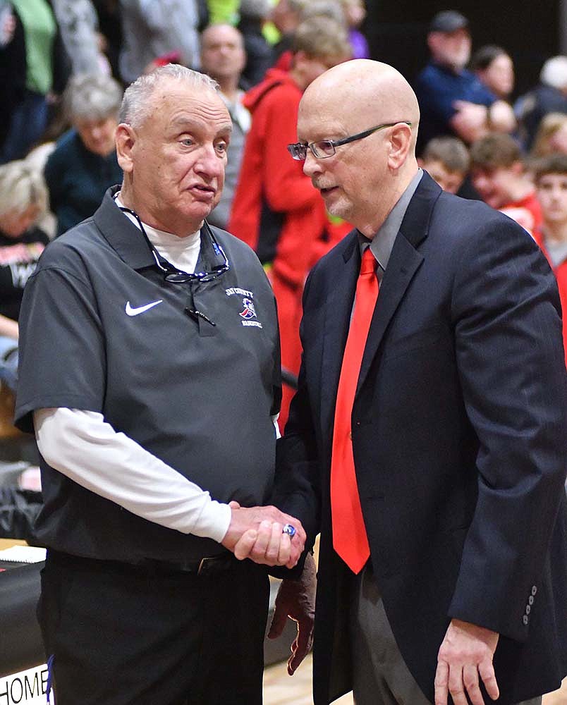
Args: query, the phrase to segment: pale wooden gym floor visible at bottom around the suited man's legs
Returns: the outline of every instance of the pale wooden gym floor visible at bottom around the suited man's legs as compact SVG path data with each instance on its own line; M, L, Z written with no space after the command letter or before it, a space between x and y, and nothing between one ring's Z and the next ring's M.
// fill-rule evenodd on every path
M264 671L264 705L313 705L311 665L308 656L291 678L285 663L269 666ZM353 705L352 694L344 695L334 705ZM567 679L561 690L544 697L543 705L567 705Z

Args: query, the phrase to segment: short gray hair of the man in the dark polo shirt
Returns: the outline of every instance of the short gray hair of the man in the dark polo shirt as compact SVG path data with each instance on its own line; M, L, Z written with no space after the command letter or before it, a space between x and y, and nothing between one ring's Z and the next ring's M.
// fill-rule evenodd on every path
M150 96L161 82L171 79L183 81L195 90L219 92L217 81L205 73L193 71L193 69L181 66L179 63L168 63L166 66L155 69L152 73L140 76L126 88L118 121L139 127L147 118Z

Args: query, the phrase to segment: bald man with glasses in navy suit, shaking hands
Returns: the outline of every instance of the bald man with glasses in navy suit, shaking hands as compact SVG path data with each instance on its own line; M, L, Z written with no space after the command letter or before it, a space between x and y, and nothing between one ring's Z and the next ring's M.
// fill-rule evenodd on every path
M418 123L397 71L350 61L307 88L290 149L356 228L307 279L278 448L275 503L321 533L315 705L350 689L357 705L538 703L567 673L559 295L523 228L418 168ZM350 417L370 548L357 572L334 547L329 488L368 247L379 295ZM261 560L266 541L252 539Z

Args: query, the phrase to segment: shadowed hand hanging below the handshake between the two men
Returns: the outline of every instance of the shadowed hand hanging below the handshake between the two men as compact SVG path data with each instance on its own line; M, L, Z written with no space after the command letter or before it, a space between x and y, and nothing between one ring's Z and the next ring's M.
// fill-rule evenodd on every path
M316 573L315 560L311 553L307 553L300 579L283 580L276 597L276 608L268 638L277 639L281 636L288 617L298 625L298 633L291 644L291 656L288 659L289 675L295 673L295 669L307 656L313 644Z

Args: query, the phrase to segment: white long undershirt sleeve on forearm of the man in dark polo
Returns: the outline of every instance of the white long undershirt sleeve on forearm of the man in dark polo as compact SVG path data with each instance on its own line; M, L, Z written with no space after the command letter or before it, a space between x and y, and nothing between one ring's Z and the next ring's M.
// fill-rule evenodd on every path
M231 508L117 433L102 414L37 409L33 419L39 453L74 482L169 529L219 542L224 538Z

